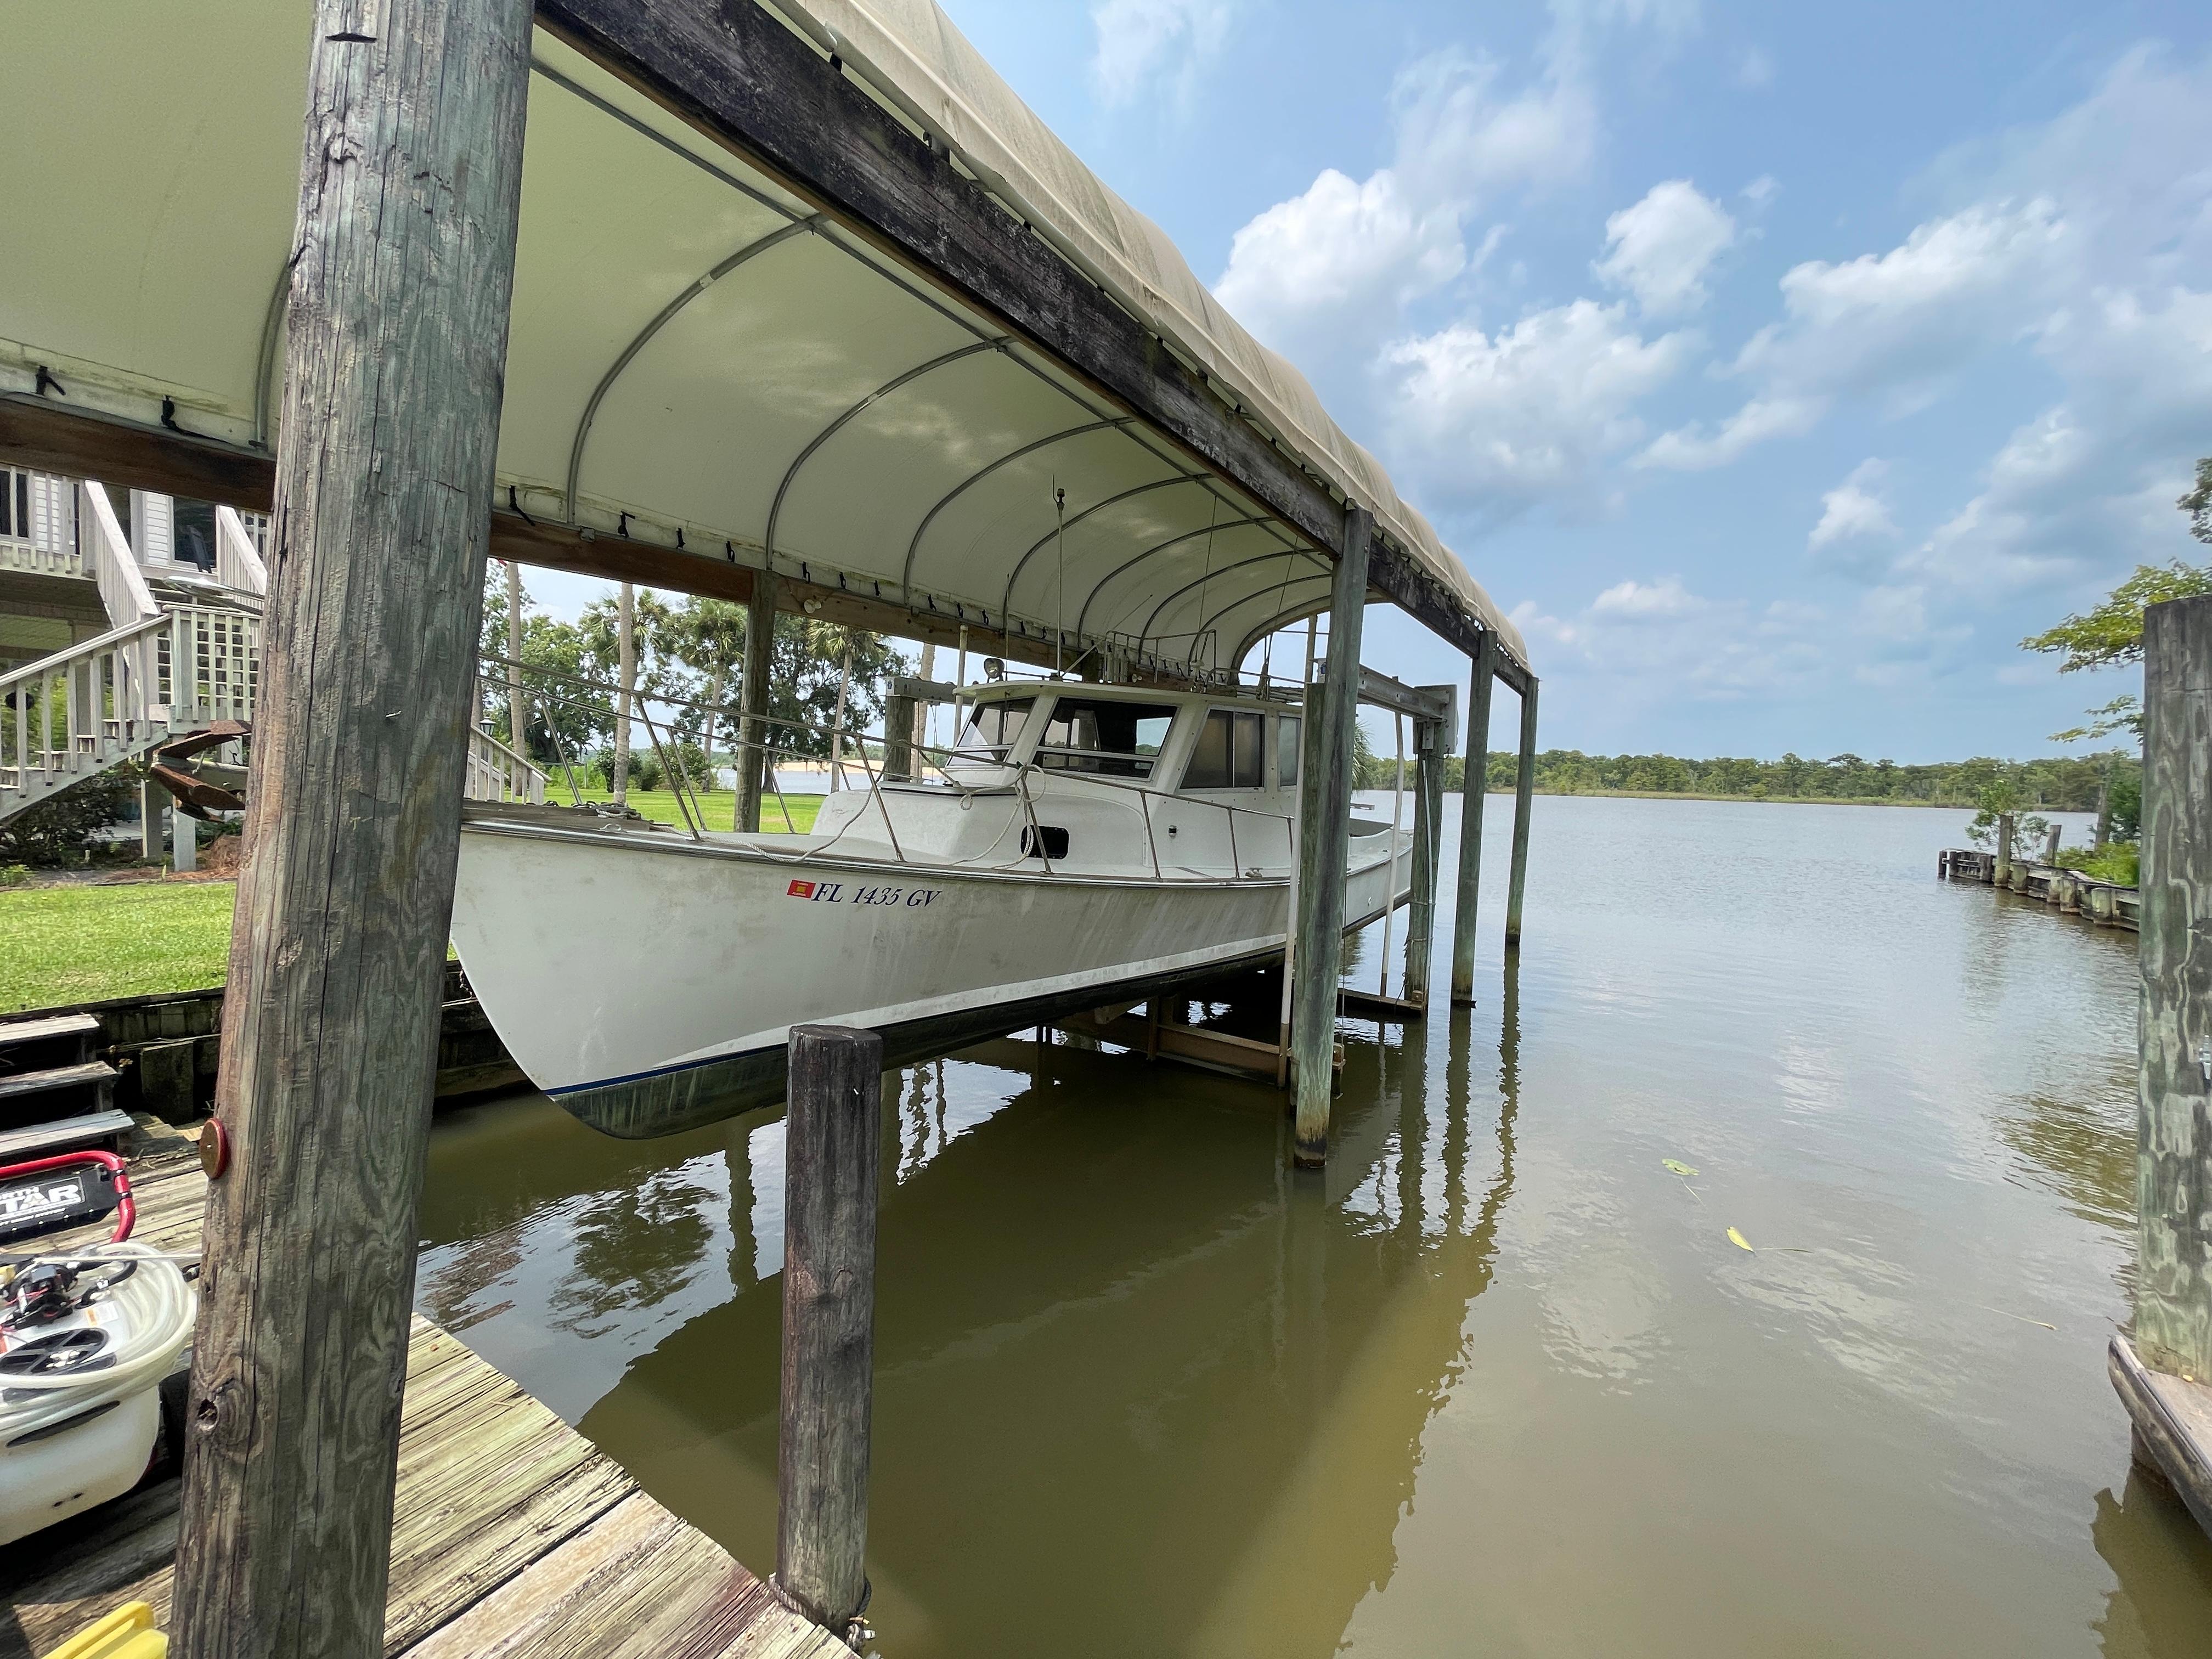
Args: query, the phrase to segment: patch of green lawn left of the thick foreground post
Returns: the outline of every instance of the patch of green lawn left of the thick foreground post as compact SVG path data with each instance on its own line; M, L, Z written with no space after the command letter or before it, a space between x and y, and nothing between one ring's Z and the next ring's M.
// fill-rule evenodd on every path
M0 891L0 1013L221 984L234 896L228 880Z

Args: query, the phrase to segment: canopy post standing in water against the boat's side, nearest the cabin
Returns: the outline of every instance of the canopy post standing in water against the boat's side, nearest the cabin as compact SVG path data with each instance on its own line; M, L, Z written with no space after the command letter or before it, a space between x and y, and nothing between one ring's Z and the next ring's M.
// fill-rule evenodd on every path
M1336 1084L1336 980L1345 962L1345 856L1352 849L1352 728L1360 695L1360 630L1367 619L1367 553L1374 513L1345 513L1345 544L1329 588L1329 668L1321 706L1305 708L1305 768L1298 779L1298 964L1292 987L1290 1057L1296 1091L1292 1157L1329 1161L1329 1093Z

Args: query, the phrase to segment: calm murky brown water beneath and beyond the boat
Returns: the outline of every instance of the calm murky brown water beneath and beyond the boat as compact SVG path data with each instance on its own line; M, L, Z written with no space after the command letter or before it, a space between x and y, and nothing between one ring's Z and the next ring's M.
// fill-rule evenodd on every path
M2212 1652L2104 1380L2135 940L1940 885L1962 816L1537 801L1325 1179L1139 1057L887 1079L880 1652ZM781 1128L431 1159L425 1312L765 1573Z

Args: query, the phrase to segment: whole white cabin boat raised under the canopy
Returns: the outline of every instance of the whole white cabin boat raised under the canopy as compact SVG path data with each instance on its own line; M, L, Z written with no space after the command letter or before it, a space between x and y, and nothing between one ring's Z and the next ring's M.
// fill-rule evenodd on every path
M887 1064L1281 960L1301 714L1250 692L1000 681L927 779L830 794L812 834L469 803L453 947L515 1064L611 1135L783 1095L785 1037ZM1349 927L1411 832L1352 821Z

